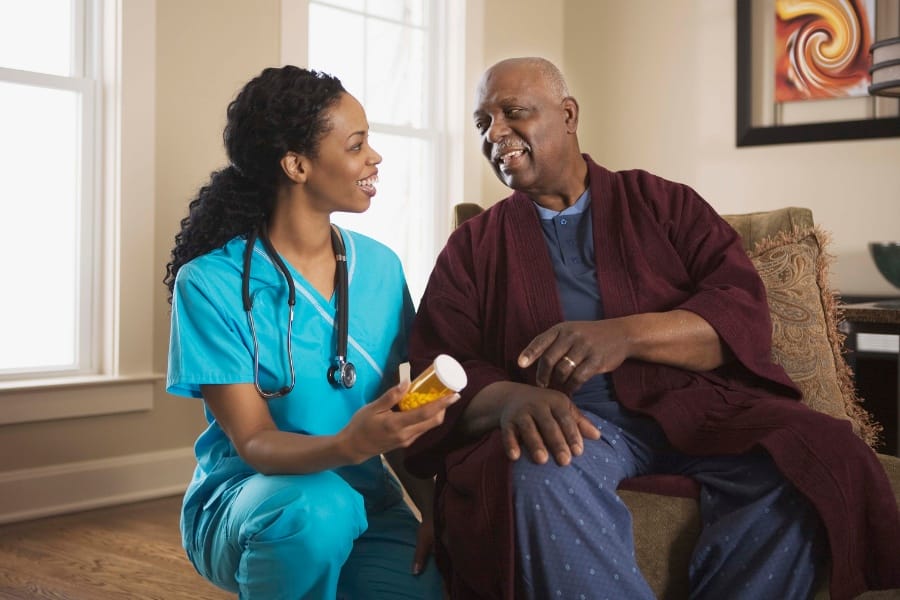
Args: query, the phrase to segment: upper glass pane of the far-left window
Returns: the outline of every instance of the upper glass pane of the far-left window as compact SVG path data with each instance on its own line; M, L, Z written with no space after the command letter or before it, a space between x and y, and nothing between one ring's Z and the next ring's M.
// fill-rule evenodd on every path
M0 67L73 75L73 0L0 0Z

